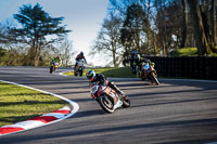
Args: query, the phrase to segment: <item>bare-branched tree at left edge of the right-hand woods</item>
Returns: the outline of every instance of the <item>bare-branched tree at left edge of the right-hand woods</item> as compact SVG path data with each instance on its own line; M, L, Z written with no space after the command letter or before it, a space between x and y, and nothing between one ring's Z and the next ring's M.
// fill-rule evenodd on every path
M111 52L114 67L118 67L123 61L122 44L119 42L119 29L122 21L118 16L111 14L102 24L93 50L97 52Z

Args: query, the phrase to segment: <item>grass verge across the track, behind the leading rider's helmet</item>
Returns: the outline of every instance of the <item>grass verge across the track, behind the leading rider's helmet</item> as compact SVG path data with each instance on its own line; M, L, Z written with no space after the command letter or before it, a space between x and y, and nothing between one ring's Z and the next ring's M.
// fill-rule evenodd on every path
M85 69L84 77L86 76L86 73L90 69ZM116 77L116 78L136 78L135 75L132 75L130 67L118 67L118 68L93 68L92 70L95 71L95 74L103 74L105 77ZM67 76L74 76L73 71L64 73L63 75Z

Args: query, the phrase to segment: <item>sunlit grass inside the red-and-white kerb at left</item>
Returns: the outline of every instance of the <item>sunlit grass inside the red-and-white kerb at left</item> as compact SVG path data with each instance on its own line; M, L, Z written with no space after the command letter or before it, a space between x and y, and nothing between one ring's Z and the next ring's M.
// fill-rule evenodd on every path
M0 82L0 127L31 119L67 105L59 97Z

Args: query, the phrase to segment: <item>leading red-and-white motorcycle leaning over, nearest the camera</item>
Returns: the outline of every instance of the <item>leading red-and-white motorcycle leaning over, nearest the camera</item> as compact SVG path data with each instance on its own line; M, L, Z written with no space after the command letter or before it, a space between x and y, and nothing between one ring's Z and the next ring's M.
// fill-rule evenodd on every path
M93 84L91 87L91 96L95 100L102 109L108 114L114 113L119 107L129 107L130 100L128 96L118 95L107 86Z

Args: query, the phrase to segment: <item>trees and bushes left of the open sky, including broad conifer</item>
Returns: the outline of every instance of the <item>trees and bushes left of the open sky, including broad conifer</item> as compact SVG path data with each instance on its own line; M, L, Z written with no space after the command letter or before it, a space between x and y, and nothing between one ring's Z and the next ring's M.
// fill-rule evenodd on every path
M18 25L11 21L0 24L0 65L44 66L53 56L68 64L73 52L64 17L51 17L37 3L21 6L13 18Z

